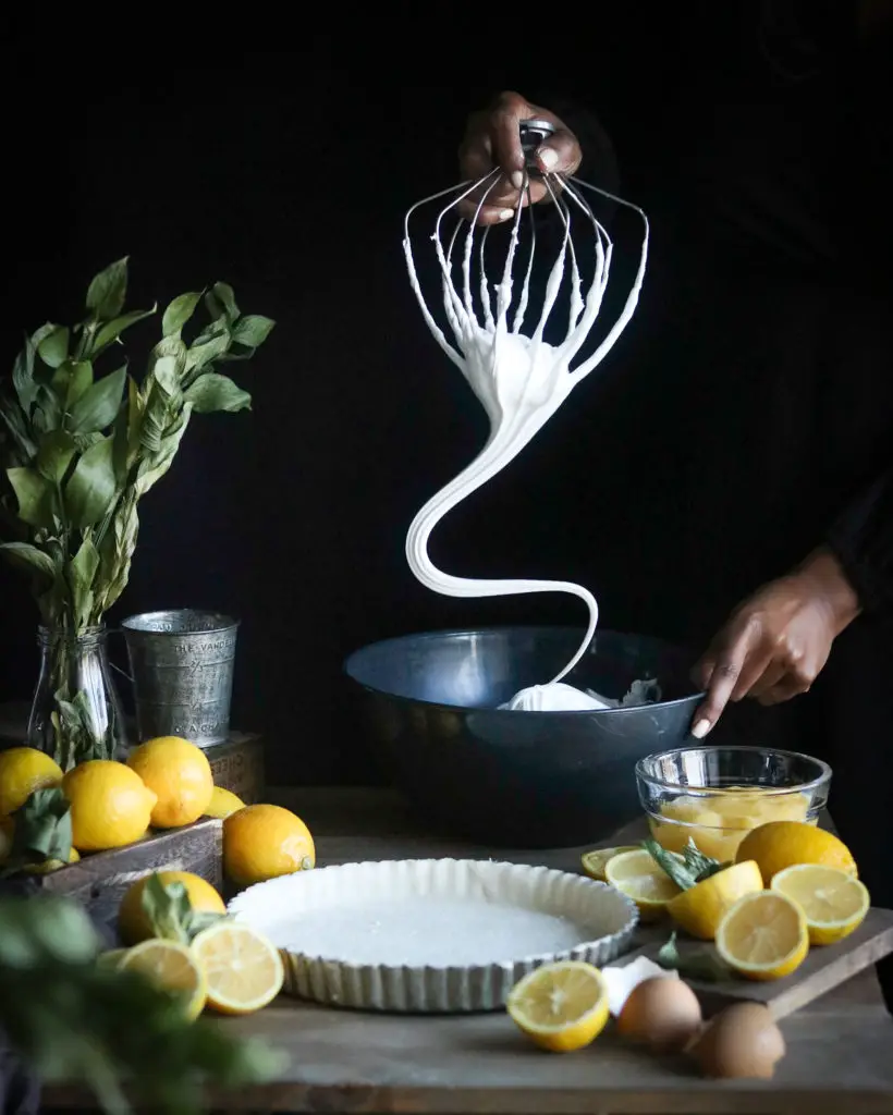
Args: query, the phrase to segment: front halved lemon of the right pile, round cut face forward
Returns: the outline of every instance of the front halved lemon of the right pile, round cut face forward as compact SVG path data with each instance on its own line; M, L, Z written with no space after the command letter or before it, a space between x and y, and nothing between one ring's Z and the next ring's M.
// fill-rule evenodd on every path
M746 979L780 979L796 971L809 952L806 918L784 894L745 894L719 923L716 948Z

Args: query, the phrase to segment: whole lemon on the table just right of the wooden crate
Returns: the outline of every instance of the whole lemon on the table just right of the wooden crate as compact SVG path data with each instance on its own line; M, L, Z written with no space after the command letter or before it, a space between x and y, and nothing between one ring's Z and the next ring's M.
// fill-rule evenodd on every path
M280 805L246 805L223 822L223 870L239 886L308 871L316 862L310 830Z

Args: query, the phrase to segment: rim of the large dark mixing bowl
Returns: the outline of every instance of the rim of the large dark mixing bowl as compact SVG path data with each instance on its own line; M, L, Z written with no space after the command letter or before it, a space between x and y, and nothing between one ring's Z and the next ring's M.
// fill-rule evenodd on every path
M387 689L379 689L376 686L371 686L366 681L360 681L350 670L350 665L356 658L366 651L372 650L376 647L385 647L388 643L405 642L409 639L443 639L453 636L473 636L473 634L491 634L498 633L503 631L547 631L550 633L557 633L561 631L569 631L582 634L583 628L575 628L569 623L494 623L488 627L478 628L436 628L431 631L410 631L406 634L390 636L387 639L377 639L375 642L367 643L365 647L358 647L352 650L347 658L341 663L341 672L344 673L349 680L360 688L366 689L368 692L380 694L388 697L390 700L406 701L410 705L428 705L431 708L439 708L449 710L458 710L462 712L474 712L497 716L515 716L521 709L512 708L499 708L498 706L492 705L446 705L444 701L438 700L426 700L424 697L405 697L402 694L389 692ZM612 628L599 628L593 636L596 639L599 634L614 636L619 639L633 638L643 639L649 642L657 643L658 646L666 647L668 650L677 651L679 653L685 653L686 648L679 647L676 643L669 642L667 639L662 639L660 636L650 634L639 634L634 631L615 631ZM589 650L589 648L588 648ZM561 717L588 717L588 716L608 716L608 715L620 715L630 712L641 712L643 709L660 707L660 708L672 708L676 705L686 705L695 701L700 701L706 696L707 690L700 689L695 692L688 694L685 697L674 697L672 700L654 701L653 705L627 705L627 706L615 706L613 708L583 708L583 709L524 709L525 716L537 716L537 717L550 717L550 716L561 716ZM693 719L693 715L692 715ZM656 753L663 754L663 753Z

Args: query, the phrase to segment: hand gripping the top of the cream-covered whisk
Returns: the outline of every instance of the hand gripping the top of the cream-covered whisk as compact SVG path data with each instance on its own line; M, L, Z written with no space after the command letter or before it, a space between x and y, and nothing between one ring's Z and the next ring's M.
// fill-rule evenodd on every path
M573 174L583 157L576 136L547 108L532 105L520 93L501 93L489 108L473 113L466 125L465 138L459 147L459 167L464 180L477 181L497 167L503 172L477 215L478 224L499 224L515 215L518 205L536 203L549 196L545 183L531 178L528 191L524 186L524 152L521 147L518 125L522 120L549 120L555 132L536 152L541 171ZM486 192L474 191L459 203L463 216L474 220L481 196Z

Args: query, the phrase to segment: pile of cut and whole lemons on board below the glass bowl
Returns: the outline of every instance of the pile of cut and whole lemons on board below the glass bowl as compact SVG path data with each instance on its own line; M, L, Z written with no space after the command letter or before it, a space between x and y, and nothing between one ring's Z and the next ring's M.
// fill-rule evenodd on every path
M719 958L747 979L790 975L812 946L853 933L871 906L846 845L804 821L759 825L741 840L734 863L714 863L693 885L676 881L673 864L682 856L664 855L667 870L642 847L598 849L582 856L582 866L631 898L643 921L669 917L689 935L715 942Z

